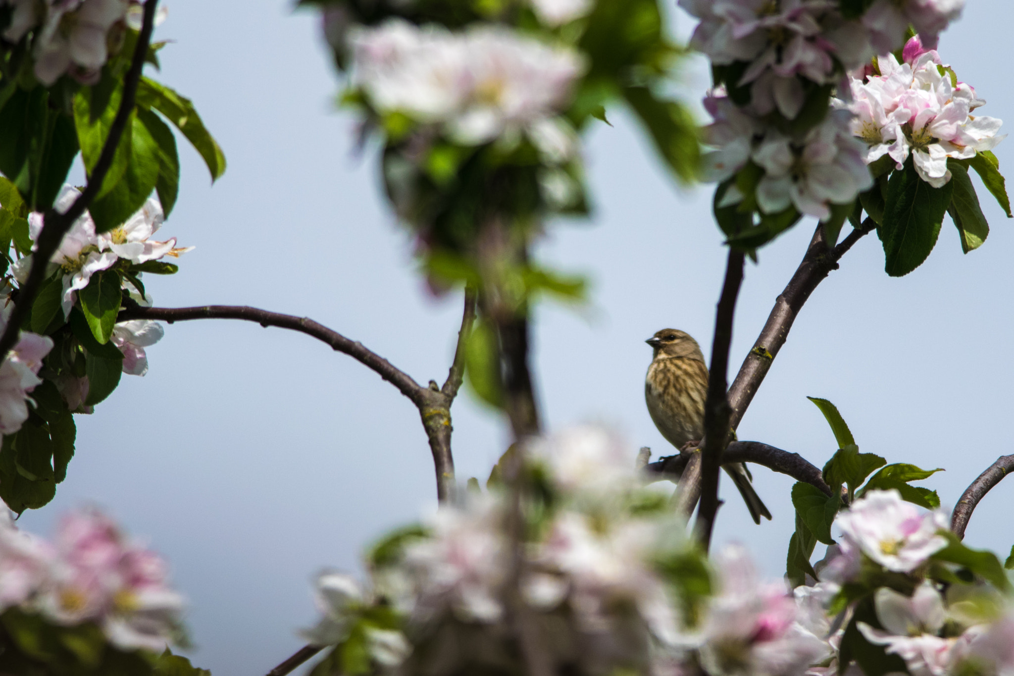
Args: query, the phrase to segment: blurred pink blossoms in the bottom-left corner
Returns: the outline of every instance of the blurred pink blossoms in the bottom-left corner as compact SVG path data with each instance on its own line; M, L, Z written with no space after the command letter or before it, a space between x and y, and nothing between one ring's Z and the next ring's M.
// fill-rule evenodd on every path
M0 518L0 612L92 623L122 650L161 653L180 635L183 597L165 564L96 510L66 515L51 542Z

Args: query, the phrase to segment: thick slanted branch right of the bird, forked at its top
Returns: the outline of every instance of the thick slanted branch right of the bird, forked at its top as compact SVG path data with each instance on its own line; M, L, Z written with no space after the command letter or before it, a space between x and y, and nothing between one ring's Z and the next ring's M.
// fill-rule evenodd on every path
M746 407L750 405L753 395L756 394L757 388L771 369L772 362L785 345L789 330L803 304L830 271L838 270L839 259L874 228L876 223L873 219L867 218L860 228L854 229L838 246L828 250L824 228L817 224L810 245L806 249L806 255L796 269L795 275L789 280L788 286L775 300L775 307L768 316L760 335L743 360L743 365L739 367L739 373L729 388L729 405L732 406L729 425L733 430L739 427Z

